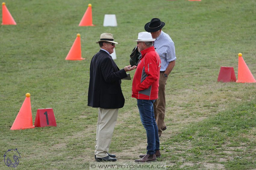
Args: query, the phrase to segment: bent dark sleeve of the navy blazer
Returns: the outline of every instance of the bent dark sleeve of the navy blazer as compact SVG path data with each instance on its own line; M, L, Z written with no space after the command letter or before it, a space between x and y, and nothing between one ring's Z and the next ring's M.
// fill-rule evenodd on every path
M116 68L114 70L114 68ZM116 71L117 70L117 71ZM105 82L112 83L127 77L124 69L119 70L111 58L104 58L101 62L101 73Z

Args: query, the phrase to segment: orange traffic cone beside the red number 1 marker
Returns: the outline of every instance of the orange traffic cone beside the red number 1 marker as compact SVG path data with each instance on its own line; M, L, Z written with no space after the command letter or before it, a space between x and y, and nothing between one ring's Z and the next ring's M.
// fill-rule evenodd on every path
M30 94L26 94L26 99L24 100L17 117L12 124L11 130L20 129L31 129L35 128L32 122L32 112L30 104Z

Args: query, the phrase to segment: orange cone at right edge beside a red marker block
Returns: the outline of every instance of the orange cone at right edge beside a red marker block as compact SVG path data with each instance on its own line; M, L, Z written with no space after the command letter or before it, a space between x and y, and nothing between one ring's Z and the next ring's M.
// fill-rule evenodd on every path
M254 79L251 71L249 70L248 66L246 65L242 53L238 54L238 77L237 83L255 83L256 80Z

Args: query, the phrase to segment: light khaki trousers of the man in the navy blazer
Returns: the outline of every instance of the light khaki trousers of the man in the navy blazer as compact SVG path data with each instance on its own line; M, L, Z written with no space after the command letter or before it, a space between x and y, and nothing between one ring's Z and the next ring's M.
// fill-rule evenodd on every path
M95 145L95 155L97 158L108 156L107 153L117 122L118 110L99 108Z

